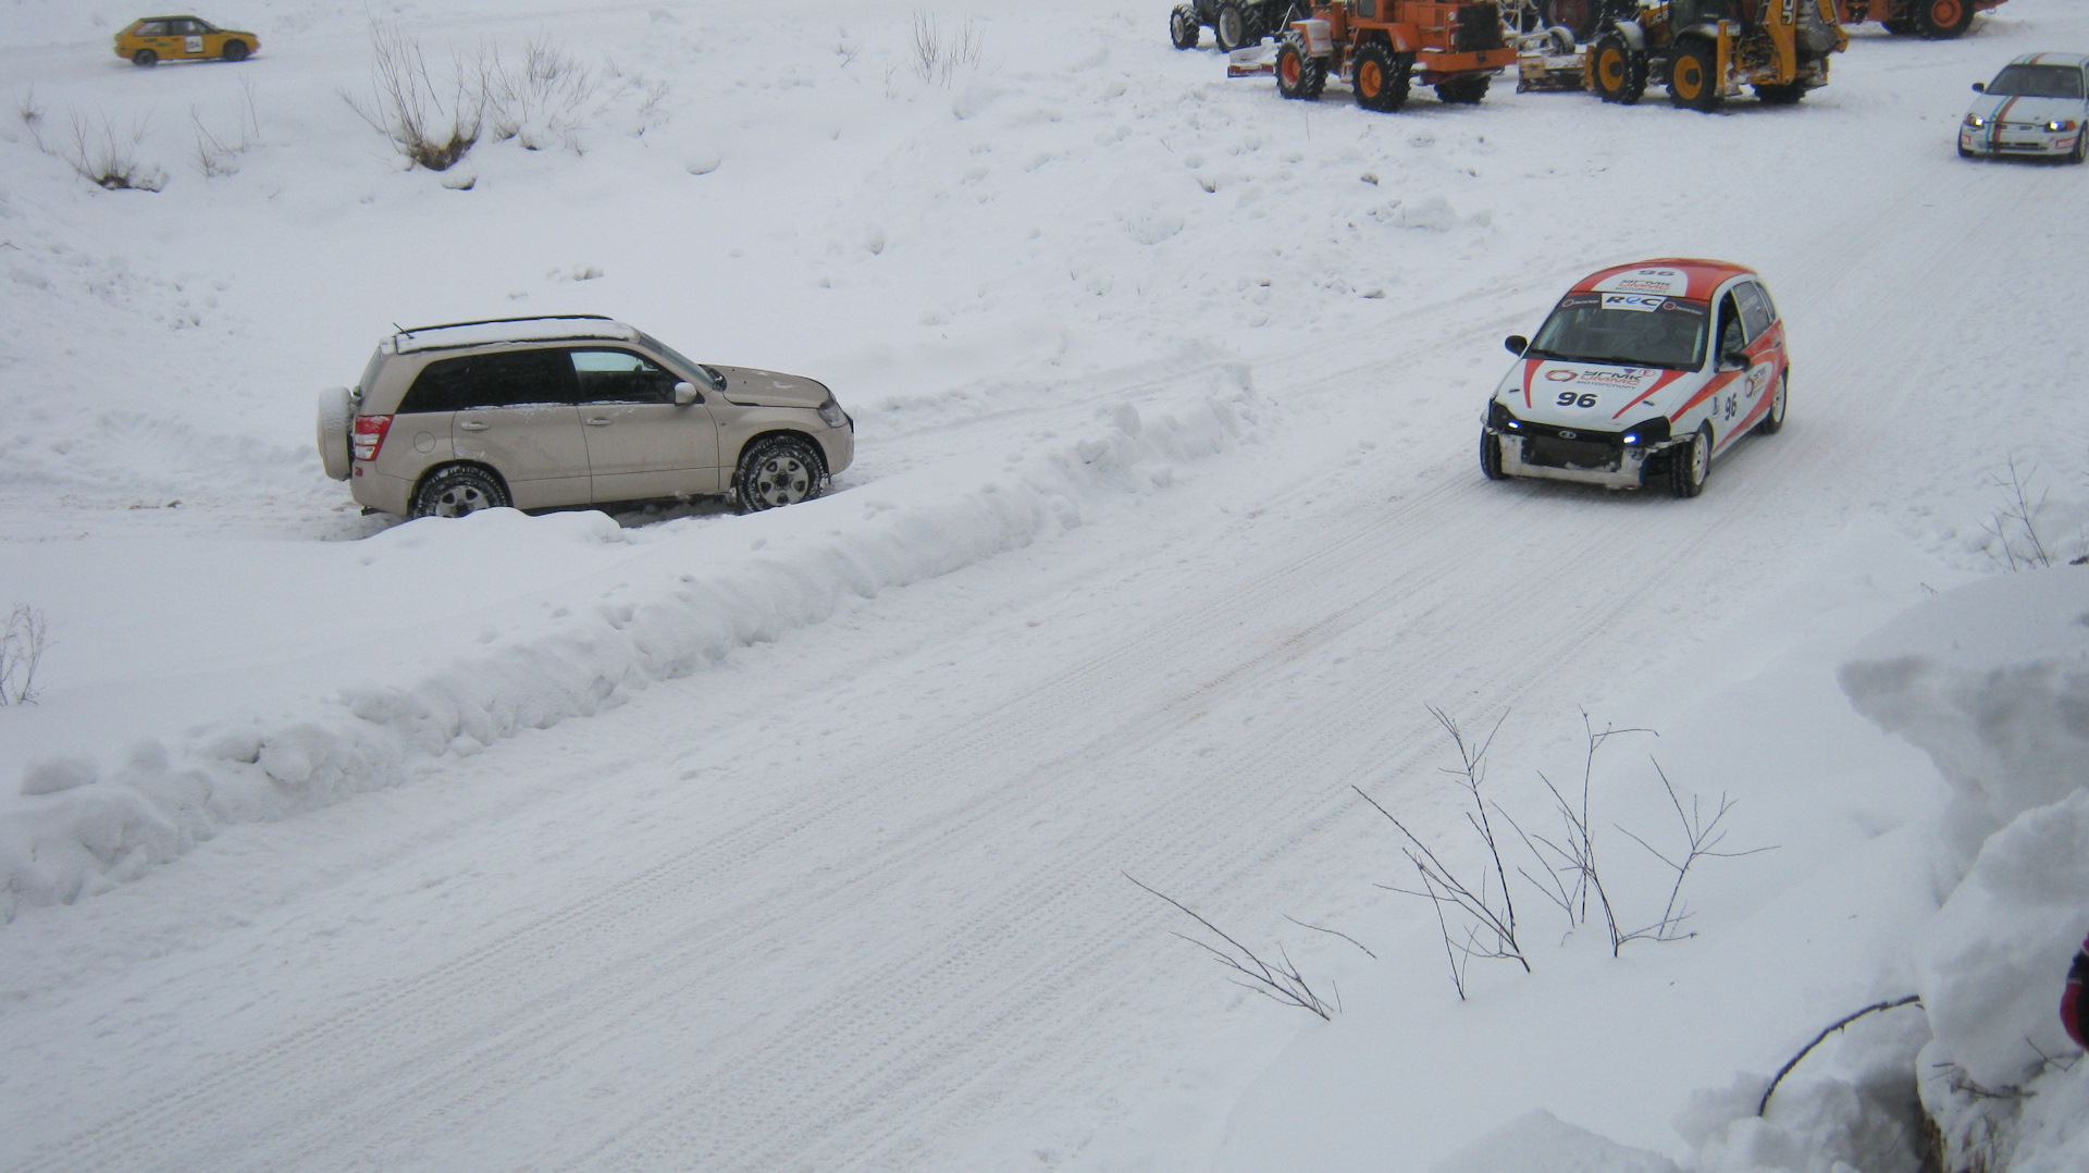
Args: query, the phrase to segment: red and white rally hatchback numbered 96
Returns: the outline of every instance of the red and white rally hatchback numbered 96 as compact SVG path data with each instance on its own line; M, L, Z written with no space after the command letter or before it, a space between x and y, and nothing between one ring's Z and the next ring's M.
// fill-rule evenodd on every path
M1479 468L1611 489L1705 491L1713 456L1784 427L1790 362L1763 278L1657 259L1575 282L1487 404Z

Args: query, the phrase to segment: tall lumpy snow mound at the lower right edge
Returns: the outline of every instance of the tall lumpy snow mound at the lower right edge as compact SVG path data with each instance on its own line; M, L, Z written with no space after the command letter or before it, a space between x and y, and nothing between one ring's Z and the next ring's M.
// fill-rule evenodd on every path
M1914 1062L1951 1169L2081 1169L2089 1064L2060 1029L2089 930L2089 573L2003 575L1859 646L1842 688L1951 784L1943 910L1916 943Z

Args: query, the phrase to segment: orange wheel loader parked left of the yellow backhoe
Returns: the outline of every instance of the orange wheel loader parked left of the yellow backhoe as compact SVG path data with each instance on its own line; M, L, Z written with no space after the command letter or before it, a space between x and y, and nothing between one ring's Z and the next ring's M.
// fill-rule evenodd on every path
M1314 0L1276 42L1274 63L1233 63L1226 75L1274 73L1278 94L1308 102L1335 77L1356 105L1389 113L1416 84L1446 102L1479 102L1515 61L1494 0Z

